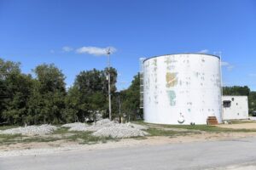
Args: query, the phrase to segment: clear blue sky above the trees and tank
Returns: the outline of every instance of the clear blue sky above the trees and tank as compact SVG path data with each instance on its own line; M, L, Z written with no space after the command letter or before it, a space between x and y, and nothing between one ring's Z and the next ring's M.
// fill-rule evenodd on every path
M107 65L86 47L116 48L119 89L140 57L204 50L222 52L224 85L256 90L256 1L0 0L0 57L23 72L54 63L70 86L79 71Z

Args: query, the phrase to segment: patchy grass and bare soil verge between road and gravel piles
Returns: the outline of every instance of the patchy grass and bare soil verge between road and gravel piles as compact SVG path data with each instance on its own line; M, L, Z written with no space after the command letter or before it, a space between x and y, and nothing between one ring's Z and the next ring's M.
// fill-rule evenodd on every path
M90 133L71 132L67 130L67 127L60 127L54 133L39 136L18 135L14 137L14 139L11 139L12 142L3 142L0 144L0 156L38 155L66 150L99 150L140 145L175 144L256 137L256 131L250 130L256 129L256 123L254 122L223 124L216 127L143 125L148 127L147 132L151 135L118 140L94 139L95 137L91 136ZM87 141L87 143L84 143L84 141Z

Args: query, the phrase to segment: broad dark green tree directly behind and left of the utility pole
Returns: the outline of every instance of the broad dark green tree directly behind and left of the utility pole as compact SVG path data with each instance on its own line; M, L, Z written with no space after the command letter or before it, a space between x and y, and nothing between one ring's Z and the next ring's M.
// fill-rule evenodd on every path
M111 68L111 92L114 93L116 82L116 70ZM67 92L67 111L71 111L71 117L77 117L79 121L95 116L101 111L107 116L108 111L108 69L99 71L81 71L76 77L73 87ZM97 101L99 100L99 102Z

